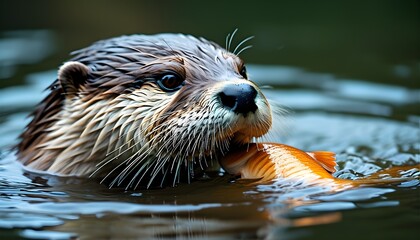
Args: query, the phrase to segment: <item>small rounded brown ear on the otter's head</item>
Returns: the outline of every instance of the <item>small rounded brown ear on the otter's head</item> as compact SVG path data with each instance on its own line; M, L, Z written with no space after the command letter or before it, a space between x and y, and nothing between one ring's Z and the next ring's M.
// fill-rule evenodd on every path
M66 62L58 70L58 81L65 94L74 95L86 83L89 68L83 63Z

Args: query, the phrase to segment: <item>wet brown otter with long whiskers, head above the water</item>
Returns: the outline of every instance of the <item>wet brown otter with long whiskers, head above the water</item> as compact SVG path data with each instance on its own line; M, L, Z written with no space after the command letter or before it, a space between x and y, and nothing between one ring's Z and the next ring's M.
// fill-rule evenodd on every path
M18 159L29 170L110 186L189 182L271 128L270 105L238 47L157 34L73 52L21 134Z

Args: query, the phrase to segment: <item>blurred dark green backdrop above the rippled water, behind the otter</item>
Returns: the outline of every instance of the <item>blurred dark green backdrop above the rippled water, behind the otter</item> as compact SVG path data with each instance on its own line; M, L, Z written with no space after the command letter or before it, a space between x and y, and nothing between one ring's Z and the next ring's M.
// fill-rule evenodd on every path
M0 1L0 87L56 69L71 51L134 33L221 46L248 36L248 63L419 87L419 1ZM37 63L36 65L34 63Z

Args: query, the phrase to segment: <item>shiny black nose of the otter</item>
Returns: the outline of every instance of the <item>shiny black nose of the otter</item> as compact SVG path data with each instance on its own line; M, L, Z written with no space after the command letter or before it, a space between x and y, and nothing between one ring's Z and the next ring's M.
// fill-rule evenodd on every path
M246 115L258 109L255 104L257 90L249 84L229 84L223 88L219 96L223 106L235 113Z

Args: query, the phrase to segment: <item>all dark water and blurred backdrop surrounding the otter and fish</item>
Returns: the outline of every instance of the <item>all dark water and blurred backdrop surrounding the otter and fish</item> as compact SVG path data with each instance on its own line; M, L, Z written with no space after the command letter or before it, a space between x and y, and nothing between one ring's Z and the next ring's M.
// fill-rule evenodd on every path
M418 2L32 2L26 8L0 2L0 239L420 235L418 180L329 193L282 180L255 186L221 174L176 188L124 191L25 173L8 150L71 50L134 32L187 32L223 45L239 27L238 41L256 36L243 55L251 79L275 108L289 109L265 140L335 151L341 178L403 165L412 167L399 176L419 178Z

